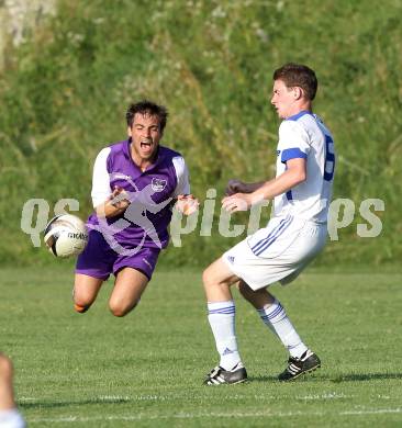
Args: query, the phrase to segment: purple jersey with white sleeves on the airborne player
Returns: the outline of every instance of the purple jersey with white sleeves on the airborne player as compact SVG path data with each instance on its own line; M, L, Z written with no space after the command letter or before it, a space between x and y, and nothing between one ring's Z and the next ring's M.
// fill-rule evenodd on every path
M102 233L116 252L133 248L165 248L171 202L179 194L190 193L188 169L182 156L159 146L155 162L142 171L132 160L131 139L102 149L94 162L92 202L105 202L115 185L124 189L131 204L112 218L98 218L92 213L88 227Z

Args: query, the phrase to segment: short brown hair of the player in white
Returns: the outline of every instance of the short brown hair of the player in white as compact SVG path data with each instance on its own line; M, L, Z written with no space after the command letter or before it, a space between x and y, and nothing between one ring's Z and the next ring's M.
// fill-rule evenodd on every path
M319 82L308 66L288 63L273 71L273 80L282 80L287 88L300 87L310 100L314 100Z

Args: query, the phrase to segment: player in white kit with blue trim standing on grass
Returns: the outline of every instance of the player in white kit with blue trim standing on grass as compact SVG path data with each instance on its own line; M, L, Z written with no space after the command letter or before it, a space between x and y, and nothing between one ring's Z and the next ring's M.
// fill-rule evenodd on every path
M280 381L291 381L320 368L319 357L301 340L283 306L267 291L291 282L323 249L332 195L335 155L331 133L312 112L317 80L303 65L287 64L273 74L271 103L280 119L277 176L259 183L232 180L223 207L233 213L261 200L273 200L273 216L226 251L203 273L209 322L220 364L205 384L238 383L247 379L237 350L235 305L231 285L257 309L290 357Z

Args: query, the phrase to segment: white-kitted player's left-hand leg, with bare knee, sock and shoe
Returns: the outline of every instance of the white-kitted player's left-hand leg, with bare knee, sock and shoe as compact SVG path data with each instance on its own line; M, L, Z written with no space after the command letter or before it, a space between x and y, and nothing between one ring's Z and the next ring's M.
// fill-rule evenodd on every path
M238 281L226 263L219 259L203 273L208 301L208 320L215 338L216 350L221 357L219 367L208 374L204 384L241 383L247 379L237 350L235 333L235 305L231 285Z

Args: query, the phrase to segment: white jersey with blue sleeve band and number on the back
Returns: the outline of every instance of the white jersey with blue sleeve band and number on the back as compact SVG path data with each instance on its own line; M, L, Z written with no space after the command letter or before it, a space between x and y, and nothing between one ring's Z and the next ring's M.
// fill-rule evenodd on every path
M326 223L335 170L334 139L323 121L302 111L279 127L277 177L287 169L287 160L306 160L306 179L275 198L273 215L292 215L315 223Z

